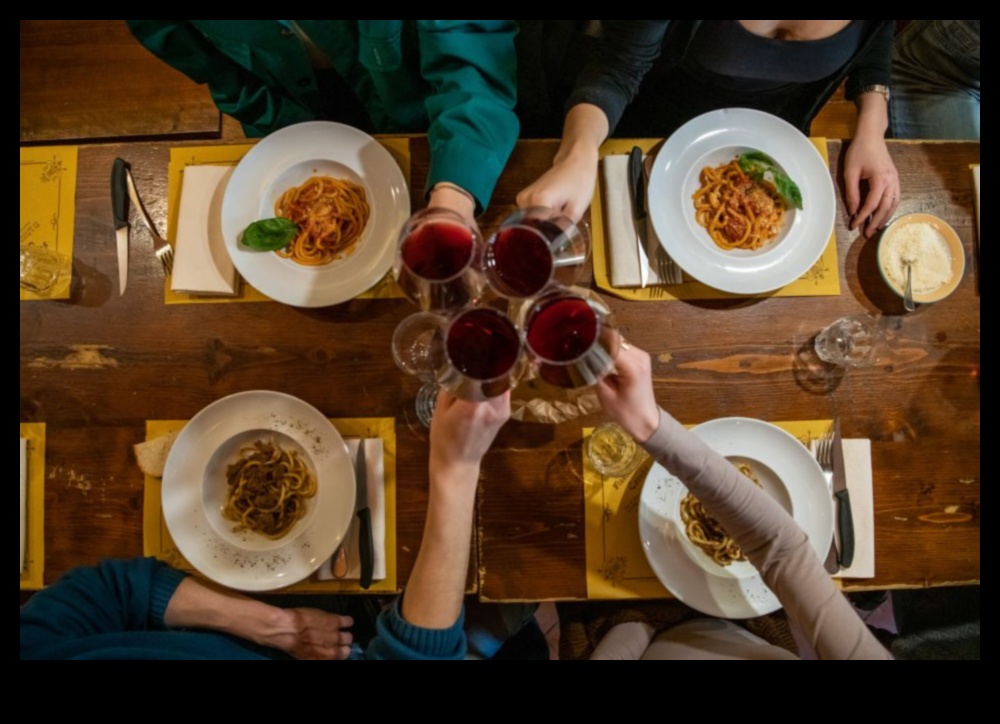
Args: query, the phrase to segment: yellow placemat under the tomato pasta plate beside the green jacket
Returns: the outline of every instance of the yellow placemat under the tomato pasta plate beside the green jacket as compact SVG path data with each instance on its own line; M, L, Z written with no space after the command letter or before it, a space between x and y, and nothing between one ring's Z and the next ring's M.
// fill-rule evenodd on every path
M403 171L403 178L406 185L410 185L410 139L381 138L379 143L389 152L389 154L399 164ZM187 166L235 166L240 162L247 152L253 148L253 144L239 144L234 146L188 146L170 149L170 165L167 169L167 239L171 244L176 243L177 217L180 213L181 184L184 179L184 169ZM391 274L386 276L369 289L358 299L398 299L403 297L403 292L393 280ZM166 304L223 304L227 302L270 302L270 297L262 294L252 286L247 284L243 278L239 279L239 291L234 297L198 297L192 294L183 294L170 289L170 277L167 277L164 286L164 302Z

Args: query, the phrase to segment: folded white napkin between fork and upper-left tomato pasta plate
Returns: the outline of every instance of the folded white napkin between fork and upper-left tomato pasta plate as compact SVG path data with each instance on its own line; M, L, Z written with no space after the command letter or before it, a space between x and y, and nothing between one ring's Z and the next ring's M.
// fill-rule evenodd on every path
M188 166L181 186L181 208L170 288L185 294L232 296L233 266L222 238L222 197L233 166Z

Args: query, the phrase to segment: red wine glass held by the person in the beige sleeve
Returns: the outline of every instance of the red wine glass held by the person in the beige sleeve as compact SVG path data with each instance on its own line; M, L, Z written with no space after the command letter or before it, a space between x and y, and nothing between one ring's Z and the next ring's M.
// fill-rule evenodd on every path
M597 295L556 289L532 301L524 313L528 352L538 376L550 385L590 387L615 371L621 336Z

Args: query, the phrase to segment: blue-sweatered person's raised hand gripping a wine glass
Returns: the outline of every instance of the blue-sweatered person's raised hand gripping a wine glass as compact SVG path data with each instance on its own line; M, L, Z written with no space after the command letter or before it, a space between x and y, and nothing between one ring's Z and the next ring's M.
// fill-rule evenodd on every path
M478 479L483 456L509 419L509 392L486 402L467 402L442 391L431 421L432 479L435 471L475 472Z

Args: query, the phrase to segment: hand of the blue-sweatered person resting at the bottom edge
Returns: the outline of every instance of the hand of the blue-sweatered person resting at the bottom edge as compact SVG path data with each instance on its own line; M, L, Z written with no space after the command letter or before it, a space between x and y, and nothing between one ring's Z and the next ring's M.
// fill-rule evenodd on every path
M354 636L345 629L354 625L349 616L311 608L278 609L275 620L257 643L283 651L300 661L346 661Z

